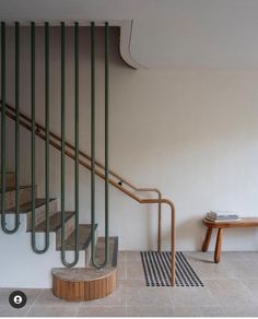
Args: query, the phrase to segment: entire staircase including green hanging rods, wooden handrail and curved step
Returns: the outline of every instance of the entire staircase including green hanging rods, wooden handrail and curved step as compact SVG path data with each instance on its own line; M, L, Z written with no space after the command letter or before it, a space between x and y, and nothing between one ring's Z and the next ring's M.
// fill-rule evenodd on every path
M175 285L175 206L174 203L165 198L156 188L138 188L124 177L109 169L108 156L108 137L109 137L109 24L105 22L105 156L104 164L96 161L96 79L95 79L95 22L91 22L91 155L80 150L79 119L80 119L80 63L79 63L79 23L74 22L74 140L72 144L67 141L67 35L66 22L60 23L60 137L50 131L50 109L52 102L50 99L50 42L49 23L44 24L44 64L45 83L40 88L45 96L45 127L36 121L37 87L36 87L36 23L31 22L31 55L27 58L31 64L30 69L30 117L21 111L20 87L23 63L20 55L20 23L14 25L14 82L15 107L7 103L9 96L7 85L9 84L7 69L7 49L5 49L5 23L1 22L1 173L4 179L1 182L1 228L0 232L0 286L2 287L50 287L56 296L67 300L90 300L105 297L116 288L117 276L117 251L118 238L109 237L109 186L115 187L125 196L140 204L155 204L157 206L157 250L162 249L162 205L167 205L171 213L171 284ZM28 71L26 71L28 72ZM72 83L71 82L71 83ZM13 85L13 83L12 83ZM69 84L70 86L70 84ZM70 102L69 102L70 103ZM83 102L82 106L86 104ZM15 122L15 174L7 174L7 151L8 132L7 119ZM20 185L20 163L21 155L21 132L25 129L31 135L31 186ZM55 128L56 129L56 128ZM44 141L45 145L45 199L37 198L36 185L36 138ZM60 199L49 198L49 152L51 149L60 152ZM66 212L66 158L72 160L74 164L74 212ZM91 225L79 224L80 214L86 213L79 211L79 187L80 174L79 166L91 172ZM2 178L0 176L0 178ZM95 222L95 179L101 178L105 182L105 237L95 236L97 225ZM141 198L139 193L154 193L155 198ZM3 198L4 197L4 198ZM58 202L60 200L60 212ZM49 204L49 212L48 212ZM90 214L89 214L90 215ZM13 227L13 217L15 226ZM19 224L20 222L20 224ZM5 225L7 224L7 225ZM49 244L49 245L48 245ZM44 252L44 253L43 253ZM109 252L109 253L108 253ZM60 258L61 257L61 258ZM107 258L108 257L108 258ZM63 265L66 268L63 268ZM52 269L50 273L50 269Z

